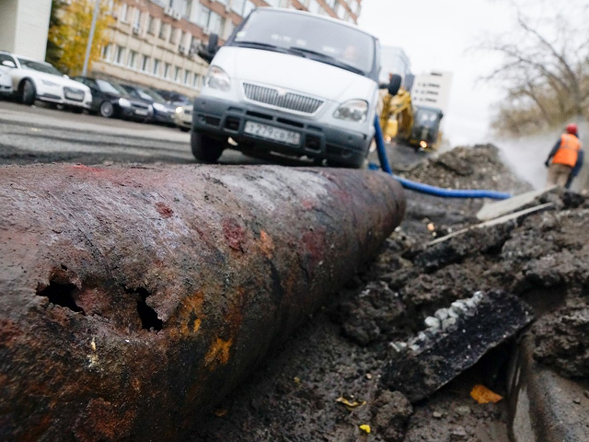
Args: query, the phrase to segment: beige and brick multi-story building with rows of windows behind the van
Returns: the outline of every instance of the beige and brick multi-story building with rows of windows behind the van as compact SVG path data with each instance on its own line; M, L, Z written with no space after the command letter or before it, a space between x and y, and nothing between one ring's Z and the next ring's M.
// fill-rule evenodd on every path
M253 8L276 6L326 14L356 23L362 0L118 0L116 21L94 75L193 97L207 63L197 48L211 34L223 43Z

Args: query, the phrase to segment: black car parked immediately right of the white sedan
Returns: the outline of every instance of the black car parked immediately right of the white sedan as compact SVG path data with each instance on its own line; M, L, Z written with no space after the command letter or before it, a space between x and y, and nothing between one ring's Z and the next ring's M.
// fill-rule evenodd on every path
M149 101L131 96L117 83L81 75L74 77L74 80L90 87L91 113L99 113L105 118L119 117L139 121L150 121L153 118L153 106Z

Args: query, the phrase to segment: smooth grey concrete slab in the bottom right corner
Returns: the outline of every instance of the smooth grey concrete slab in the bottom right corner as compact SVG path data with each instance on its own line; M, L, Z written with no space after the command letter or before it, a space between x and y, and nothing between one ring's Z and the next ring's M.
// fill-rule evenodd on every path
M509 368L509 430L515 442L589 440L589 382L575 382L537 364L524 335Z

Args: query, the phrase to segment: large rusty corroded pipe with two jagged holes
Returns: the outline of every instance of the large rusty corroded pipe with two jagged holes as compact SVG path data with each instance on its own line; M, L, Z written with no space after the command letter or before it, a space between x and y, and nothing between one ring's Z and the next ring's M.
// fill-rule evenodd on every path
M0 167L0 439L181 437L404 211L374 171Z

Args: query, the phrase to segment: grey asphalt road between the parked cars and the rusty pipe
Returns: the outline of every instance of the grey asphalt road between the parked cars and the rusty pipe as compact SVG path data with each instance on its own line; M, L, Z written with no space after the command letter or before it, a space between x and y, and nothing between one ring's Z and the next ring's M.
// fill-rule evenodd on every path
M0 164L197 163L178 128L0 100ZM224 164L266 161L226 150Z

